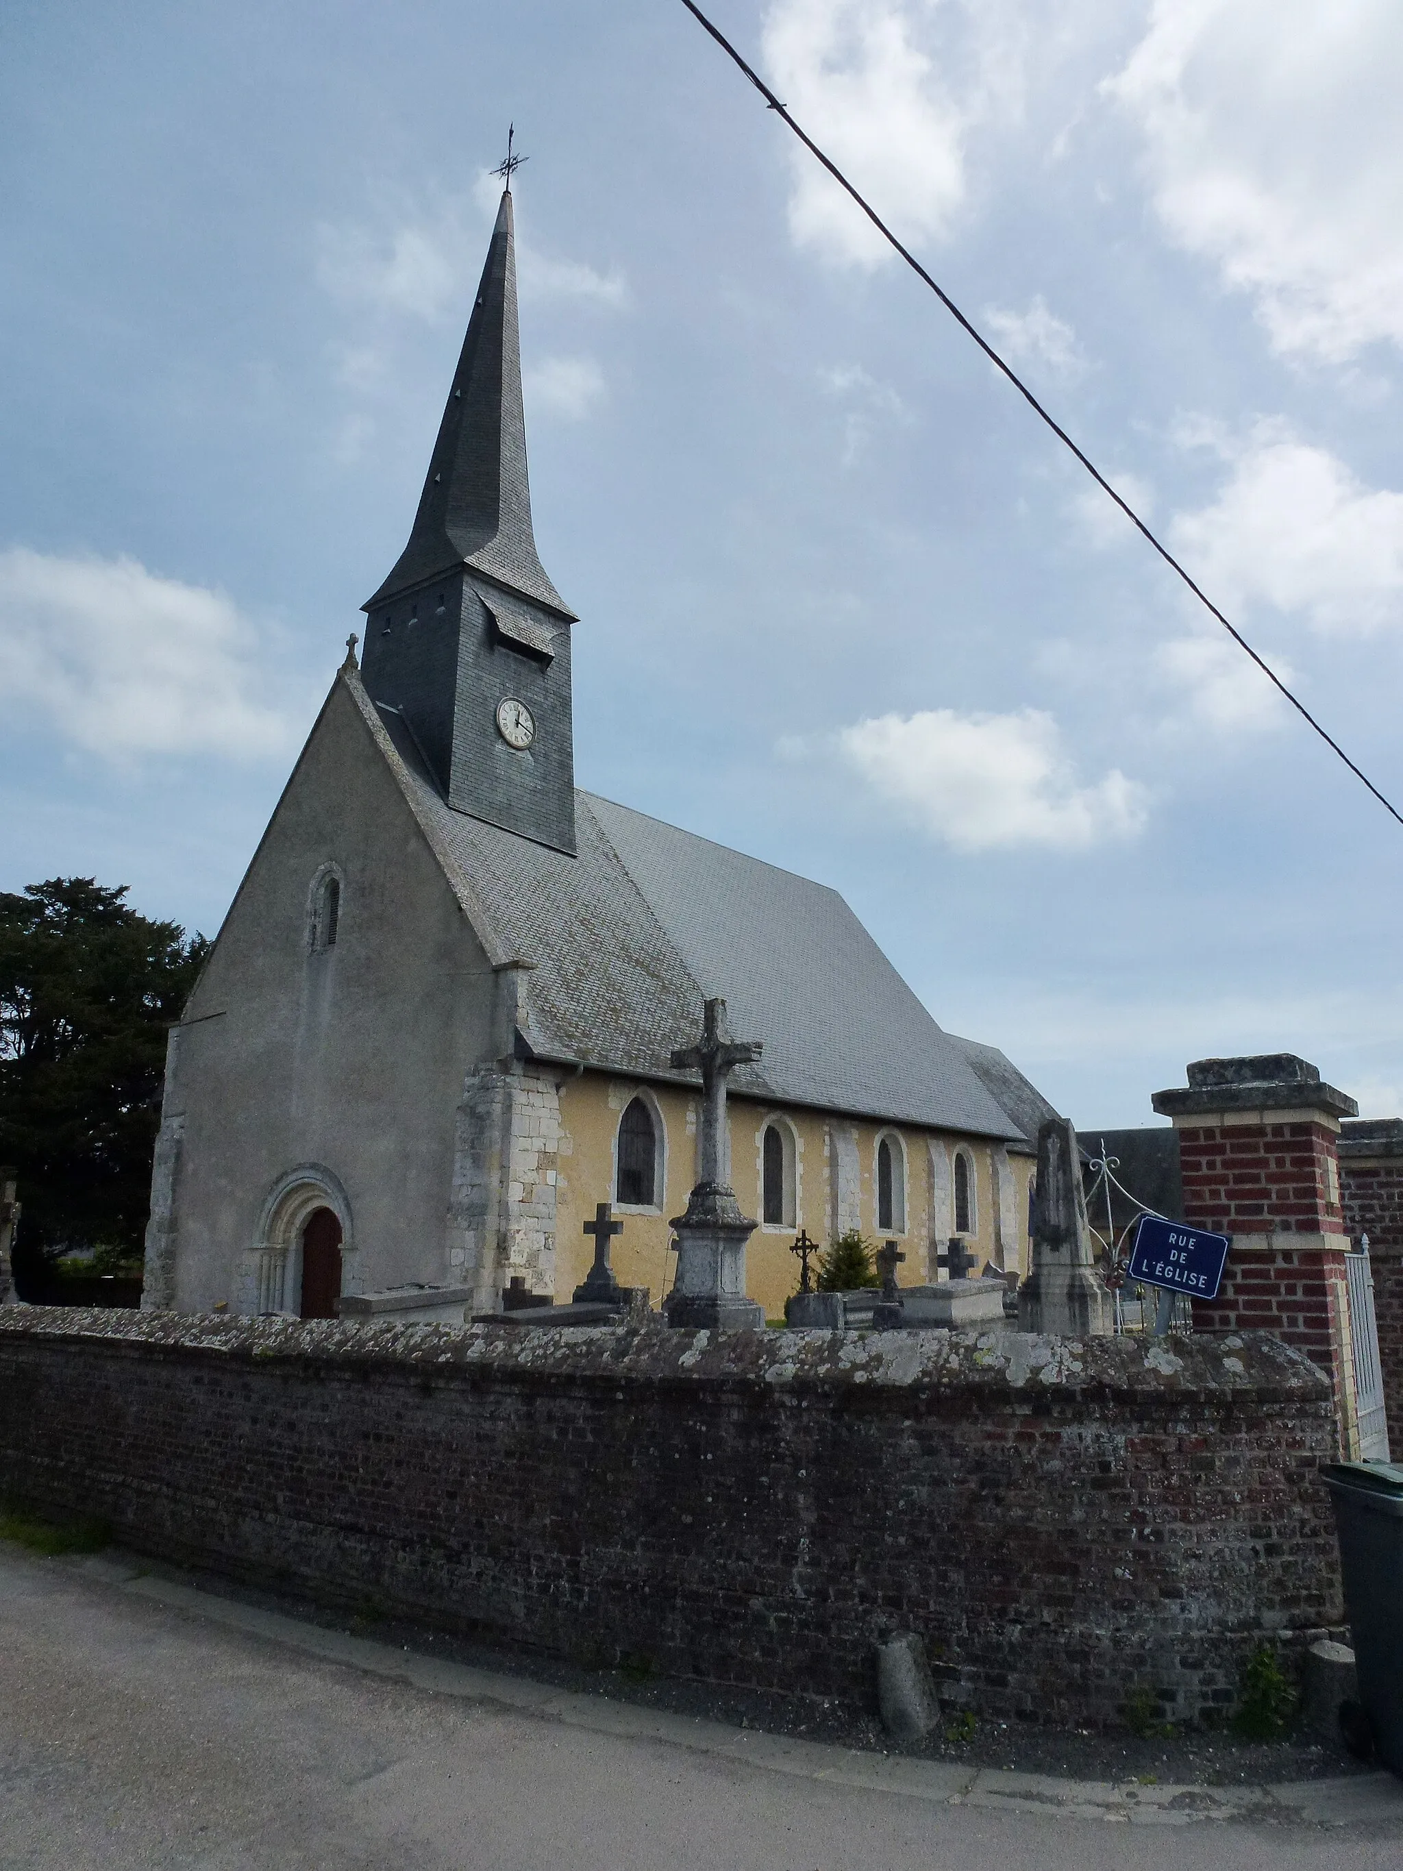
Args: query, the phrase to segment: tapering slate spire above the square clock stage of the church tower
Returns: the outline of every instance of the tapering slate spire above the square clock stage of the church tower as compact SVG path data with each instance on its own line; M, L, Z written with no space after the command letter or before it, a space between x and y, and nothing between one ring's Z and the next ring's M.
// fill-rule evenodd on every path
M537 558L531 531L511 187L501 193L410 543L363 608L462 565L574 619Z

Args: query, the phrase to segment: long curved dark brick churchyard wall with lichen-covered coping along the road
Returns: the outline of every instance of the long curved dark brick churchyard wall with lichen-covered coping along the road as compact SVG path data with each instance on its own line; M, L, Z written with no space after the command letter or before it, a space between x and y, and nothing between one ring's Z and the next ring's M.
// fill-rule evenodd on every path
M950 1706L1233 1701L1339 1620L1326 1381L1266 1334L1106 1338L0 1312L0 1489L137 1549L550 1652Z

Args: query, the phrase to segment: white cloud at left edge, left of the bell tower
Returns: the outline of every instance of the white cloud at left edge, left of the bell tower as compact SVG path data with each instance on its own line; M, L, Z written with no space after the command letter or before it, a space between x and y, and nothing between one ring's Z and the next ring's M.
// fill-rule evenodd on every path
M137 559L0 552L0 690L86 752L282 758L286 715L260 702L253 631L223 591Z

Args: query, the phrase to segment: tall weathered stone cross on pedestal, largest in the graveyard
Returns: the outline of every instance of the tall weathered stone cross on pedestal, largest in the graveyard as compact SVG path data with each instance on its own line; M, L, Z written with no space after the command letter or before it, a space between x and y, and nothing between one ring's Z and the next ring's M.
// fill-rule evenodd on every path
M668 1298L668 1325L716 1330L765 1328L765 1308L745 1297L745 1244L756 1224L741 1214L730 1186L726 1080L737 1065L759 1059L758 1040L726 1035L726 1001L707 1001L702 1040L679 1046L673 1070L702 1074L698 1182L687 1214L670 1224L677 1235L677 1284Z

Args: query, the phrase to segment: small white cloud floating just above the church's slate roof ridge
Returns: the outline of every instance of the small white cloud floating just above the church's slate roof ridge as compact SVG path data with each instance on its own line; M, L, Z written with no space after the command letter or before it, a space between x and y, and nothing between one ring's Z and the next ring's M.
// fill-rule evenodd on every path
M1079 786L1051 715L881 715L838 733L842 761L956 851L1085 851L1141 831L1147 793L1113 769Z

